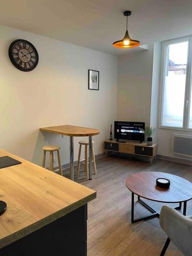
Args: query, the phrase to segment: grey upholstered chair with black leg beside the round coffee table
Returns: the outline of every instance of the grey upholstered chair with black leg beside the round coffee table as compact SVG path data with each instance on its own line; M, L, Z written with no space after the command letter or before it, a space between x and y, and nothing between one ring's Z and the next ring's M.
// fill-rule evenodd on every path
M185 217L174 208L163 205L160 213L160 226L167 234L168 238L161 251L161 256L165 254L170 240L185 255L192 255L192 216Z

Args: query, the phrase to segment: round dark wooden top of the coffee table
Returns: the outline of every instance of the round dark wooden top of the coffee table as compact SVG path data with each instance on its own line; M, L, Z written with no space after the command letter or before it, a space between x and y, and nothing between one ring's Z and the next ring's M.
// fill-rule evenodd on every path
M156 179L170 180L170 187L156 186ZM179 176L160 172L142 172L126 180L127 188L134 194L156 202L179 203L192 199L192 183Z

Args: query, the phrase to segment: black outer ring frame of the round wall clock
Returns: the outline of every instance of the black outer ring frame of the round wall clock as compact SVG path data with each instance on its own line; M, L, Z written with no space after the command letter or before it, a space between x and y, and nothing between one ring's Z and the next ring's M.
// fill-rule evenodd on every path
M14 61L14 58L12 56L12 49L13 47L18 44L18 42L26 42L26 44L30 45L31 48L33 48L34 52L35 52L35 55L36 55L36 63L33 67L29 68L29 69L25 69L25 68L22 68L20 66L17 65L17 63ZM37 64L38 64L38 61L39 61L39 56L38 56L38 52L36 50L36 48L34 47L33 44L31 44L31 42L27 41L27 40L24 40L24 39L16 39L14 40L11 45L9 46L9 58L11 60L11 63L13 64L13 66L15 66L15 68L17 68L18 70L20 71L24 71L24 72L29 72L29 71L32 71L36 68Z

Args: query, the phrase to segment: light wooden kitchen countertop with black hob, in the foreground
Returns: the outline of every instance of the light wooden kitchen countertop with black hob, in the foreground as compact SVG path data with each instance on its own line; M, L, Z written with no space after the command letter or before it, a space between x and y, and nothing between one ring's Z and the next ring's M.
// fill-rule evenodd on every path
M0 169L0 248L67 215L96 198L96 191L6 151L22 164Z

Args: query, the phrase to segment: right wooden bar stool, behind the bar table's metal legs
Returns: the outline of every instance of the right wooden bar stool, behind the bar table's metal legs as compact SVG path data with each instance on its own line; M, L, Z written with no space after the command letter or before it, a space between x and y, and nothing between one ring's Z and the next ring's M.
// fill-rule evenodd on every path
M95 164L95 153L94 153L94 147L93 147L94 141L92 141L92 163L93 163L93 169L94 169L94 174L97 174L97 169L96 169L96 164ZM81 157L81 146L84 145L84 159L80 159ZM78 155L78 162L77 162L77 175L79 175L79 167L80 164L84 164L84 170L86 172L87 179L89 179L89 172L88 172L88 146L89 146L89 141L87 140L80 140L79 141L79 155ZM84 161L81 162L81 161Z

